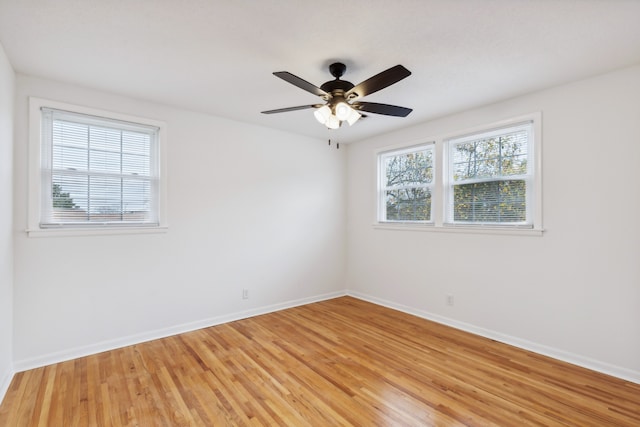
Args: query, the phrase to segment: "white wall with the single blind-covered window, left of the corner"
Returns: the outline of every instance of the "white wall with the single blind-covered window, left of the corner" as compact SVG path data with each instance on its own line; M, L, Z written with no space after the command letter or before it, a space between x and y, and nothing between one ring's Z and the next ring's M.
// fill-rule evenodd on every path
M165 121L168 233L27 237L28 96ZM16 369L344 294L325 141L18 75L15 159Z

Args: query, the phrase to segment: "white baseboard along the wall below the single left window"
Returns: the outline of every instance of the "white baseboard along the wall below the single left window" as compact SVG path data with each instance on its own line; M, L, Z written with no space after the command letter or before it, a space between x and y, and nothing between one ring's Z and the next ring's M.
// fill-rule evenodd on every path
M64 362L67 360L77 359L78 357L89 356L103 351L114 350L129 345L140 344L146 341L152 341L159 338L166 338L172 335L182 334L185 332L195 331L197 329L208 328L210 326L220 325L235 320L246 319L248 317L259 316L261 314L272 313L274 311L284 310L286 308L297 307L300 305L311 304L314 302L324 301L332 298L345 296L345 291L330 292L327 294L316 295L309 298L302 298L283 303L257 307L251 310L240 311L236 313L225 314L208 319L202 319L196 322L184 323L181 325L171 326L169 328L157 329L142 334L130 335L127 337L117 338L89 344L82 347L71 348L55 353L50 353L29 359L14 361L15 372L26 371L28 369L40 368L42 366L51 365L53 363ZM10 381L10 379L9 379ZM7 385L8 387L8 385Z

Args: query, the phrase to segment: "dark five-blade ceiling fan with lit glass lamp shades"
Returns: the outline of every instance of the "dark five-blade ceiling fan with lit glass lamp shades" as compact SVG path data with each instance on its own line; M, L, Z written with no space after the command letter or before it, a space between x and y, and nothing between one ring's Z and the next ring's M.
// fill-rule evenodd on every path
M397 105L379 104L377 102L356 101L366 95L370 95L394 83L399 82L411 75L411 71L402 65L396 65L375 76L355 85L340 77L347 70L347 66L341 62L335 62L329 66L329 72L335 80L329 80L320 87L314 86L306 80L301 79L287 71L277 71L273 73L276 77L291 83L300 89L306 90L319 96L325 101L324 104L301 105L298 107L279 108L276 110L263 111L263 114L285 113L288 111L304 110L315 108L316 119L329 129L338 129L343 122L353 125L362 114L360 111L386 116L406 117L411 108L399 107Z

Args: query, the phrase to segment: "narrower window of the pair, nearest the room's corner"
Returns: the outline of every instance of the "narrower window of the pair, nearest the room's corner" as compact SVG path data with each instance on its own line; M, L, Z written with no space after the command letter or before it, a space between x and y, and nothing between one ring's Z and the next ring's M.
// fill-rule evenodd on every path
M382 221L431 221L433 147L391 151L380 156Z

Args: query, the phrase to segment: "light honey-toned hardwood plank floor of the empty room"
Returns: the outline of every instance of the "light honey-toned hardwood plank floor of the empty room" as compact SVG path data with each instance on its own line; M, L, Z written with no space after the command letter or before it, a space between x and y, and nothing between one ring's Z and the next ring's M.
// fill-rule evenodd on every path
M640 385L350 297L16 374L0 426L640 426Z

